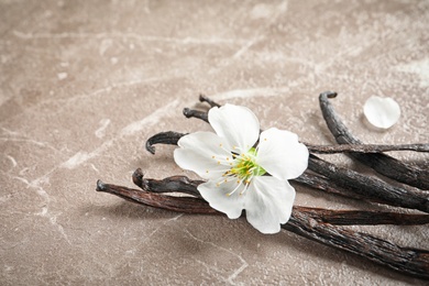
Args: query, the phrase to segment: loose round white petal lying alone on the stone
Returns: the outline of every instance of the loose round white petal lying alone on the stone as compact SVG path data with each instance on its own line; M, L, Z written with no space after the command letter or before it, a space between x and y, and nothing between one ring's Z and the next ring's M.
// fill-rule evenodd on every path
M376 128L392 128L400 117L399 105L393 98L371 97L363 107L367 121Z

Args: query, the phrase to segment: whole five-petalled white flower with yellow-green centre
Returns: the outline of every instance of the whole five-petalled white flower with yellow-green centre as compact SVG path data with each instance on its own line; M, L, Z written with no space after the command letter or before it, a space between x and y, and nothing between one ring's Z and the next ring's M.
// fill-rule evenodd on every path
M272 128L260 135L260 122L245 107L212 108L209 122L216 133L196 132L178 141L176 163L208 180L198 190L212 208L230 219L245 209L258 231L278 232L295 199L287 180L307 168L307 147L289 131Z

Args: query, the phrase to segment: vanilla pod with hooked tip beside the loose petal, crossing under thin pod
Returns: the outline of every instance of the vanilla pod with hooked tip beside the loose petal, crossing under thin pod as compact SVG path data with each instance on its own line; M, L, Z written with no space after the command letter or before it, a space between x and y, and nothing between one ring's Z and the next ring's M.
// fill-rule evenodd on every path
M320 109L329 130L340 144L361 144L362 142L350 133L333 110L329 98L336 97L337 92L331 91L322 92L319 96ZM386 177L420 189L429 190L429 170L419 168L414 164L403 163L386 154L351 153L351 155Z

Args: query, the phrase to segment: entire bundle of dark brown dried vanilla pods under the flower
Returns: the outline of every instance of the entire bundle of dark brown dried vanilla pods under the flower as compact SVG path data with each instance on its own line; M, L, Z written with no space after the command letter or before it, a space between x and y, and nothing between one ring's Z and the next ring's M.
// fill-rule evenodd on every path
M341 226L376 224L426 224L429 223L429 170L413 163L405 163L386 155L387 151L429 152L428 144L374 145L364 144L353 136L334 112L330 99L336 92L319 96L320 108L329 130L339 145L310 145L308 168L292 184L300 184L334 196L388 205L394 211L330 210L294 206L287 223L282 229L334 249L351 252L394 271L413 277L429 279L429 251L399 246L367 233L356 232ZM200 96L210 107L219 103ZM184 114L208 122L208 112L186 108ZM175 144L185 136L175 131L153 135L146 150L155 153L154 144ZM397 183L395 186L375 177L329 163L317 154L346 153L353 160ZM133 202L185 213L223 215L210 207L202 198L198 186L205 180L185 176L164 179L144 178L139 168L132 179L140 189L97 182L97 190L109 193ZM413 188L406 187L406 185ZM400 187L404 186L404 187ZM174 194L174 195L172 195ZM184 194L186 196L177 196ZM396 208L397 207L397 208ZM402 210L413 209L410 215ZM419 213L421 212L421 213Z

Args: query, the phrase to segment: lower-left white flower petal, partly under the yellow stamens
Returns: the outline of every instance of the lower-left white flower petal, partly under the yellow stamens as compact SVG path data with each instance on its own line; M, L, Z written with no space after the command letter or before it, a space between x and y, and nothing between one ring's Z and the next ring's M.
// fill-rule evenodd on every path
M238 219L244 208L245 196L240 195L244 186L241 185L231 196L228 196L237 186L235 180L223 183L220 186L209 180L199 185L198 190L210 207L226 213L230 219Z

